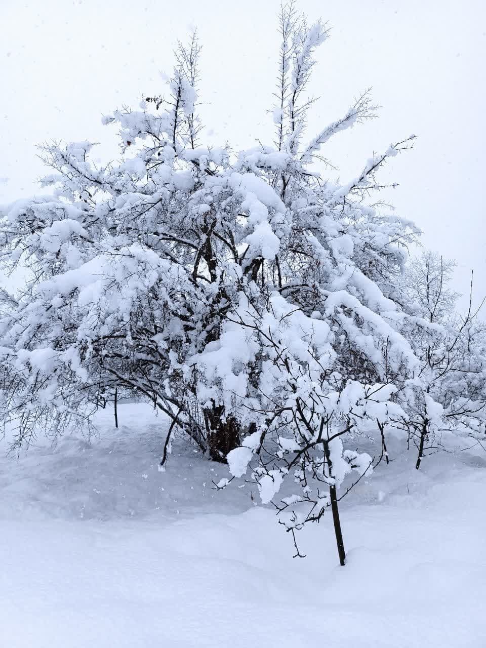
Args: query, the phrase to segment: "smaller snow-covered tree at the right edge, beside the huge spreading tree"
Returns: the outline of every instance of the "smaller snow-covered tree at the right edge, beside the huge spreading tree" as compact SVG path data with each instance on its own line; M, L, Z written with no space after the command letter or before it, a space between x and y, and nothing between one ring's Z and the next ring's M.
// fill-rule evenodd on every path
M400 301L410 314L408 332L421 362L409 400L406 429L422 457L441 449L452 433L482 441L486 424L485 336L480 308L457 312L459 294L451 288L455 262L424 251L411 259L399 283ZM414 317L417 317L414 321Z

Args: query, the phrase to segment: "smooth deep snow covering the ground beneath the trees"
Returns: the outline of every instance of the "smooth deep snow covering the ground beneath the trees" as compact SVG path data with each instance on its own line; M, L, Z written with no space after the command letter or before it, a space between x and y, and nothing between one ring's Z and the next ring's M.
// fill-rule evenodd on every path
M486 457L417 472L391 442L343 501L341 568L330 515L293 560L251 485L214 491L226 467L184 444L158 472L163 419L120 409L91 443L0 456L1 648L486 646Z

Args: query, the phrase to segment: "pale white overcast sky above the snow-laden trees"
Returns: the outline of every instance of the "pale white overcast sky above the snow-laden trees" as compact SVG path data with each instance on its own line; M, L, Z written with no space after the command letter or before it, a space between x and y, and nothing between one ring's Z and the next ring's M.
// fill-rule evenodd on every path
M33 194L46 139L112 141L103 113L161 91L172 49L198 27L202 113L211 143L272 141L279 0L0 0L0 203ZM485 0L301 0L332 25L311 91L308 137L373 86L380 119L341 133L325 155L354 177L373 151L417 133L387 181L423 244L457 259L456 287L486 292ZM384 198L389 198L385 195Z

